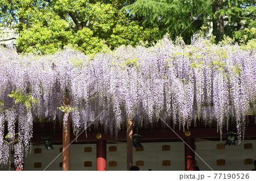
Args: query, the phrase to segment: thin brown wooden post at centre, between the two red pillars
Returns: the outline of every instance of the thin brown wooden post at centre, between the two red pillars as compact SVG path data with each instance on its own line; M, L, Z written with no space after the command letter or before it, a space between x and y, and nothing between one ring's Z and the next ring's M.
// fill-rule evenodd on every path
M127 119L127 130L126 130L126 147L127 147L127 170L133 166L133 117L129 116Z

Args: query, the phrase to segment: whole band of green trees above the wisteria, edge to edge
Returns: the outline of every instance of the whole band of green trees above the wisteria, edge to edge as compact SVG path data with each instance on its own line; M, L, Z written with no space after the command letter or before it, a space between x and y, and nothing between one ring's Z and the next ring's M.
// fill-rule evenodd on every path
M25 53L54 53L67 45L86 54L122 44L154 45L166 33L190 44L202 26L216 43L224 35L239 43L255 38L253 0L0 0L0 5L0 31L13 28Z

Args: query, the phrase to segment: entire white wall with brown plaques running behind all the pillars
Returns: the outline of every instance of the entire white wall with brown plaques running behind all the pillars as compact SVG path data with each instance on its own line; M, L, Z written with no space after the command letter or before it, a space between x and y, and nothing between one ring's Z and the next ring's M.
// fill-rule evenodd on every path
M251 170L253 165L244 165L244 159L256 159L256 140L242 141L240 145L225 146L224 150L217 150L216 145L225 141L196 141L196 153L216 171ZM244 149L243 144L252 143L253 149ZM158 142L142 143L144 151L133 149L133 162L144 161L141 170L184 170L184 143L183 142ZM170 145L170 151L162 151L162 145ZM92 152L85 153L84 147L91 146ZM109 146L117 146L117 151L109 152ZM62 170L59 163L62 162L62 154L59 153L61 145L54 145L54 149L44 149L43 146L33 146L31 154L24 160L24 170ZM34 154L34 148L42 148L41 154ZM60 154L60 155L59 155ZM59 157L57 157L59 155ZM171 166L162 166L163 160L170 160ZM225 166L217 166L217 159L225 159ZM12 159L13 160L13 159ZM91 161L92 167L84 167L85 161ZM109 161L117 161L117 167L109 167ZM200 170L208 171L210 168L196 155L197 165ZM41 162L42 168L34 168L35 162ZM8 170L2 167L0 170ZM11 169L13 170L13 169ZM71 170L96 170L96 144L71 145ZM107 170L126 170L126 144L107 144Z

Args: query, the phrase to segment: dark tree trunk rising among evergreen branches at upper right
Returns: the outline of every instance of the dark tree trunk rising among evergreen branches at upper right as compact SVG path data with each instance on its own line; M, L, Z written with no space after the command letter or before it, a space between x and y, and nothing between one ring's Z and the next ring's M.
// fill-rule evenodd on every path
M221 9L222 0L217 0L212 7L213 13ZM224 35L224 18L220 14L216 14L216 18L213 18L213 35L216 36L216 42L220 41Z

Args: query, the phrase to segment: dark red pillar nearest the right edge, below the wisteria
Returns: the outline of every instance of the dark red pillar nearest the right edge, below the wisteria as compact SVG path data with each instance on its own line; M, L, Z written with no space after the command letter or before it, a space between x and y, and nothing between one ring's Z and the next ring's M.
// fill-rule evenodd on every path
M187 137L185 142L185 171L195 170L195 138ZM189 148L190 147L190 148ZM192 150L191 150L192 149Z

